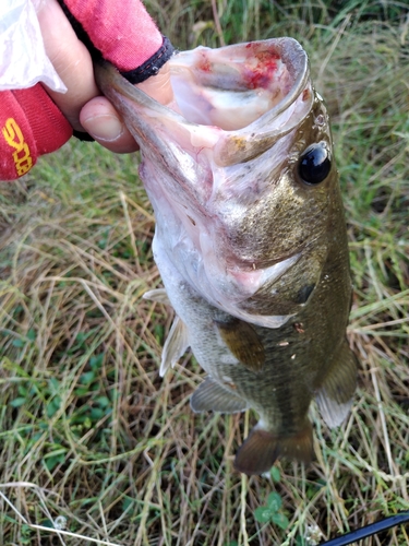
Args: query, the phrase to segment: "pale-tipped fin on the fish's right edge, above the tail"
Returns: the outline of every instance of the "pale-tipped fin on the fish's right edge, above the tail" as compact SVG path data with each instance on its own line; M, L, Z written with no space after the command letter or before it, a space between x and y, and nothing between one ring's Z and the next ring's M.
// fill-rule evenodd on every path
M348 415L357 388L357 358L345 340L315 395L321 415L328 427L339 426Z

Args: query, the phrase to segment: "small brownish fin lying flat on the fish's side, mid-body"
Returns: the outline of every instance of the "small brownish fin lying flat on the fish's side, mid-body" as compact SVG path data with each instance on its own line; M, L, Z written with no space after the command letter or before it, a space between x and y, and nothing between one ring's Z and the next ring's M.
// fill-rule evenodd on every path
M239 319L215 321L222 341L241 364L251 371L260 371L265 361L263 344L254 328Z

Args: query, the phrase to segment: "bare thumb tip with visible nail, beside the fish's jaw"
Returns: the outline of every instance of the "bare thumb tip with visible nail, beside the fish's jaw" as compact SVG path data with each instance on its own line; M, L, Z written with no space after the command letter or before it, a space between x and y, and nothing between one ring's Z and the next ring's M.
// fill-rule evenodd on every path
M107 98L99 96L89 100L81 110L80 120L85 131L111 152L125 154L139 150L122 118Z

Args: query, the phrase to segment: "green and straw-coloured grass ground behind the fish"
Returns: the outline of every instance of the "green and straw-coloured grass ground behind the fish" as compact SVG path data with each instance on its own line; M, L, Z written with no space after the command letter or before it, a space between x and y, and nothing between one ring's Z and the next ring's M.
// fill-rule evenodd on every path
M406 2L147 5L180 49L308 50L347 210L356 401L337 430L312 410L311 466L234 473L254 416L193 416L189 358L158 377L171 316L142 299L160 280L137 156L73 141L0 189L0 545L306 546L409 509ZM56 518L65 534L40 529ZM400 526L362 544L408 542Z

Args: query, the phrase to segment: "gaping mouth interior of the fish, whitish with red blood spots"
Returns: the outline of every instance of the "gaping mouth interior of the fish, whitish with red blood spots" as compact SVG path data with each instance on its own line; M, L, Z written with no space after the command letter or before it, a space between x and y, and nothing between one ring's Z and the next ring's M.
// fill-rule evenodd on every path
M266 112L278 116L304 91L308 59L292 38L199 47L170 61L171 82L188 121L236 131Z

